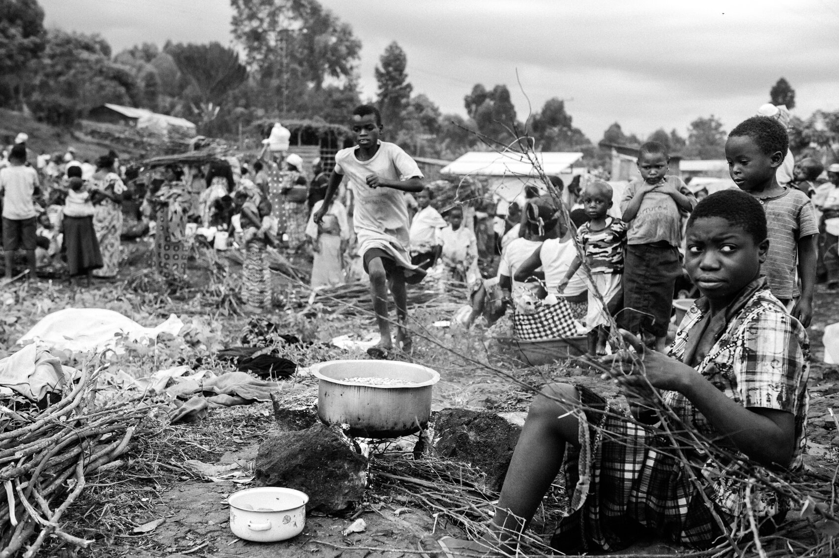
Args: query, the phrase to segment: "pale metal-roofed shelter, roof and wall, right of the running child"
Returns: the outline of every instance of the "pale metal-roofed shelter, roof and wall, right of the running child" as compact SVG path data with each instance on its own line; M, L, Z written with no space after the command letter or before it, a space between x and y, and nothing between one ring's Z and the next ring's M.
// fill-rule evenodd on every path
M574 175L585 171L584 167L574 168L581 158L581 153L535 152L529 154L538 162L545 175L559 176L568 184ZM501 197L504 201L513 201L524 193L524 186L536 185L545 190L539 180L538 170L527 154L515 151L470 151L440 169L440 175L459 175L483 178L487 180L487 194Z

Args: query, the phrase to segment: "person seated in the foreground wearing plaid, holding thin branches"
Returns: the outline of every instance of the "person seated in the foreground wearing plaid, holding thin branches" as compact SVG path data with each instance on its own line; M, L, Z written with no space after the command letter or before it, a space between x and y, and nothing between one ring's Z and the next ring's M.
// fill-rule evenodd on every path
M688 221L685 268L702 297L670 351L624 331L637 352L601 359L637 420L586 387L547 386L530 407L484 540L444 537L441 549L512 550L564 461L576 462L565 471L571 508L551 545L565 553L622 549L644 529L709 547L753 532L747 500L758 524L783 519L789 503L755 479L769 478L763 468L801 466L809 342L766 287L768 248L752 196L722 190L701 201Z

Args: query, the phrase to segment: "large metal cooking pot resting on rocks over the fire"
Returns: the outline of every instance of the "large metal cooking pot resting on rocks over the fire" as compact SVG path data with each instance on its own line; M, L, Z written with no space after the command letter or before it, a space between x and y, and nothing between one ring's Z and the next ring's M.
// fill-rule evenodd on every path
M349 425L350 434L393 438L425 428L431 415L431 389L440 374L409 362L338 360L312 367L320 380L317 408L328 425ZM363 385L344 378L393 378L408 385Z

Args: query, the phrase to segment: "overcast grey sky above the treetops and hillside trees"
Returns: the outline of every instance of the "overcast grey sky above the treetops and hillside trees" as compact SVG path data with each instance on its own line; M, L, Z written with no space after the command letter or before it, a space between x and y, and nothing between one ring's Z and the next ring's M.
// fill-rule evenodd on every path
M414 93L465 115L476 83L506 84L519 119L552 96L592 141L618 122L644 138L685 135L699 116L727 129L769 101L784 76L794 114L839 109L836 0L320 0L363 44L373 69L397 41ZM228 0L40 0L50 27L102 34L118 52L142 42L231 43ZM519 87L516 78L518 71ZM524 91L524 92L523 92Z

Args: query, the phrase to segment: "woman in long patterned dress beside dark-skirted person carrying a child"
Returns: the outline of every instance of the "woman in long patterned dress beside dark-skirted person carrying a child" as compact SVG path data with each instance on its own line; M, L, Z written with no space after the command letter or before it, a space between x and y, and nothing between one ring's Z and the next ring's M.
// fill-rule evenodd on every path
M125 185L113 172L112 155L96 159L96 172L91 177L91 198L93 199L93 229L102 252L102 268L94 269L93 276L112 279L119 272L120 242L122 234L122 193Z

